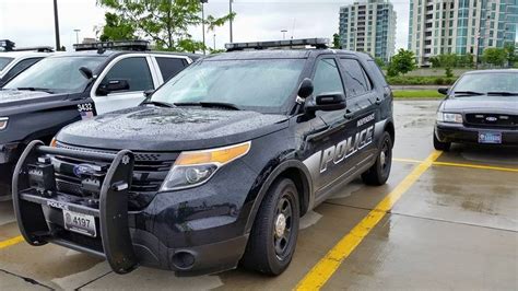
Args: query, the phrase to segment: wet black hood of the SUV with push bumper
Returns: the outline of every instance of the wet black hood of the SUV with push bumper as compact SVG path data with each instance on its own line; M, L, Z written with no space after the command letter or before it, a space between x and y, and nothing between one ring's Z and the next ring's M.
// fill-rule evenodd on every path
M285 127L284 115L139 106L72 124L57 139L87 148L183 151L239 143Z

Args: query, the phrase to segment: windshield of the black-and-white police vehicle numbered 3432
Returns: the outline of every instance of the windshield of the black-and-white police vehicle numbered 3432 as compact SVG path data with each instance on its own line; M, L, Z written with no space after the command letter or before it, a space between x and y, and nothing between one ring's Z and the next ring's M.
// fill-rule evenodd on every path
M79 68L95 71L105 57L46 58L12 79L4 89L37 88L51 92L82 92L86 78Z

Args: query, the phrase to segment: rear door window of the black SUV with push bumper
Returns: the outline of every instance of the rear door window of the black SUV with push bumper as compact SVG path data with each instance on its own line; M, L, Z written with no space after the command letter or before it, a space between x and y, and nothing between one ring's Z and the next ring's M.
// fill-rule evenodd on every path
M370 83L365 78L365 72L355 59L340 59L345 74L348 96L358 96L370 91Z

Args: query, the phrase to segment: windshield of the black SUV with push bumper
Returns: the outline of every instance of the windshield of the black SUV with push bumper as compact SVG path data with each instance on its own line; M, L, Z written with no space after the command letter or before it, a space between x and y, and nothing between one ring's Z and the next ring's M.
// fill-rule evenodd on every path
M239 109L281 113L304 63L304 59L205 60L169 80L151 101L228 103Z

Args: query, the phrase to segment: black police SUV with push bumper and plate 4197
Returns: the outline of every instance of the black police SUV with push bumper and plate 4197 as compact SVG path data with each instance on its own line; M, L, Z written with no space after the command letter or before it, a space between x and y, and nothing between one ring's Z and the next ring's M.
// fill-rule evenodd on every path
M239 261L281 273L304 213L358 176L385 184L391 167L381 71L326 43L231 44L141 106L70 125L55 147L32 142L13 177L25 240L96 255L119 273Z

